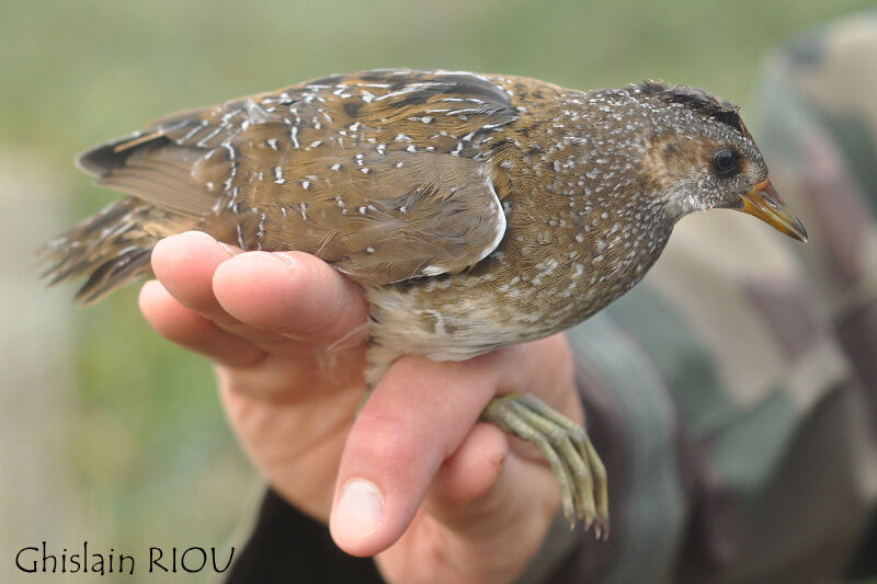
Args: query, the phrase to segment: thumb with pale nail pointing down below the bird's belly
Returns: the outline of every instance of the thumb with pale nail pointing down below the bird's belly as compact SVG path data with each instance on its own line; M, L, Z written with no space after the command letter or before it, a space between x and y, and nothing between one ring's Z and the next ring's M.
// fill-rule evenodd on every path
M354 422L339 467L329 526L344 551L372 556L402 535L493 397L493 373L485 359L394 364Z

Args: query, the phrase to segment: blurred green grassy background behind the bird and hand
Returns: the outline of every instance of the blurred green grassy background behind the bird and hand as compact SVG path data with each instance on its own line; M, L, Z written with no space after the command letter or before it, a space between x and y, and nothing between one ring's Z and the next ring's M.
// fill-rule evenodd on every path
M3 290L16 286L22 304L9 311L2 363L56 380L24 371L15 398L0 402L0 425L18 428L5 439L30 453L0 458L0 557L42 539L56 548L88 539L138 557L153 545L221 546L258 491L207 363L148 329L134 287L82 310L68 308L72 287L42 290L33 250L117 196L72 167L77 152L175 110L376 67L506 72L582 89L664 78L713 90L745 113L771 47L869 5L0 1L0 228L27 226L3 266ZM39 216L22 217L37 192ZM52 318L37 324L31 313ZM25 329L33 354L22 356ZM10 562L0 564L2 576Z

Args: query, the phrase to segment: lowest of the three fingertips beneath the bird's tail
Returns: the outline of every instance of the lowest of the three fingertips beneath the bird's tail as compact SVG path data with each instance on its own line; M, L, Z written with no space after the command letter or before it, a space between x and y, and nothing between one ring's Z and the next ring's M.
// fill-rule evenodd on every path
M140 311L161 336L229 367L252 367L265 354L184 307L157 280L140 289Z

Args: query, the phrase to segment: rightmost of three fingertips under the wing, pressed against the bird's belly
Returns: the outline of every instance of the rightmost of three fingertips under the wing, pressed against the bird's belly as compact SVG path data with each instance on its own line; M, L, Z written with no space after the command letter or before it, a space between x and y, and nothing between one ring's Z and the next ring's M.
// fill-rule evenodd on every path
M332 343L362 328L368 316L360 286L303 252L237 255L216 270L213 286L234 318L294 339Z

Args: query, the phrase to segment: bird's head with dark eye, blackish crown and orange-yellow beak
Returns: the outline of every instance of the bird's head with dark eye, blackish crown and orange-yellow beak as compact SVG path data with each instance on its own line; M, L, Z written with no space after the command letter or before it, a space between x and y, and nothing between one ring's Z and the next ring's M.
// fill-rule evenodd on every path
M645 81L635 88L654 107L643 171L650 191L679 219L737 209L807 241L807 231L771 184L767 165L739 108L703 90Z

